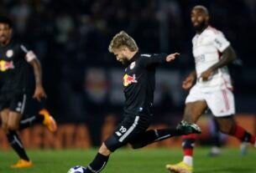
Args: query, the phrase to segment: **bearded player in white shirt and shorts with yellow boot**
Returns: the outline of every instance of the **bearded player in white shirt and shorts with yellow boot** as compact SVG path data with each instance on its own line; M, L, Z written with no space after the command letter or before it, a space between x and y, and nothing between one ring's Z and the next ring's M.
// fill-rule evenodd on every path
M205 7L196 6L192 9L191 22L196 29L196 35L192 39L196 70L191 72L182 84L183 89L191 89L185 99L182 122L196 123L209 107L222 133L256 145L255 136L239 126L233 117L235 104L227 70L227 64L236 59L232 46L222 32L209 25L209 14ZM196 84L193 86L194 82ZM182 130L183 125L180 124L177 128ZM166 165L166 168L176 173L191 173L194 142L195 135L185 135L182 145L183 161L176 165Z

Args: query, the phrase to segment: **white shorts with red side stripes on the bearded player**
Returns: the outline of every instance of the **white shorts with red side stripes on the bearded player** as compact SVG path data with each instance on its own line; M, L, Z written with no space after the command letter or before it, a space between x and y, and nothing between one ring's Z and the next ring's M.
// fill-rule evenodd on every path
M186 97L185 103L205 100L212 114L217 117L235 114L234 96L230 89L220 89L212 92L202 92L196 84L191 88L190 94Z

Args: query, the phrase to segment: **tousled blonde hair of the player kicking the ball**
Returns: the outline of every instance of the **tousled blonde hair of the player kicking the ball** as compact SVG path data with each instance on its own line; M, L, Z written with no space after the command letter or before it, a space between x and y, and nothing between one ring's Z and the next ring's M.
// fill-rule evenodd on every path
M108 51L110 53L113 52L113 49L121 48L122 46L126 46L130 51L138 51L138 46L134 39L128 35L128 33L125 33L124 31L121 31L117 33L111 40Z

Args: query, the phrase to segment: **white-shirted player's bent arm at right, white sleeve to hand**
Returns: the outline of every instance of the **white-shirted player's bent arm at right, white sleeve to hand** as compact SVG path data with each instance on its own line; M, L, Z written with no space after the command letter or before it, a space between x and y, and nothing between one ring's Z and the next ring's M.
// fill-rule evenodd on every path
M232 46L222 34L216 36L213 44L217 50L222 53L222 59L220 59L217 64L213 64L212 67L201 74L202 80L207 80L212 72L226 66L227 64L232 63L237 58L237 55Z

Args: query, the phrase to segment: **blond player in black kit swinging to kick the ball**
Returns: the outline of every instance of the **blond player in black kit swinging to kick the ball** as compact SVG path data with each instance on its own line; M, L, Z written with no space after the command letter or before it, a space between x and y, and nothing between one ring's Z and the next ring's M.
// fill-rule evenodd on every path
M157 64L171 62L179 53L139 53L133 38L123 31L112 38L108 49L126 67L123 76L126 99L123 121L102 143L94 160L86 166L86 173L102 171L111 153L123 145L129 144L133 149L138 149L174 135L201 133L200 128L194 124L186 124L184 131L147 130L153 117L155 67Z

